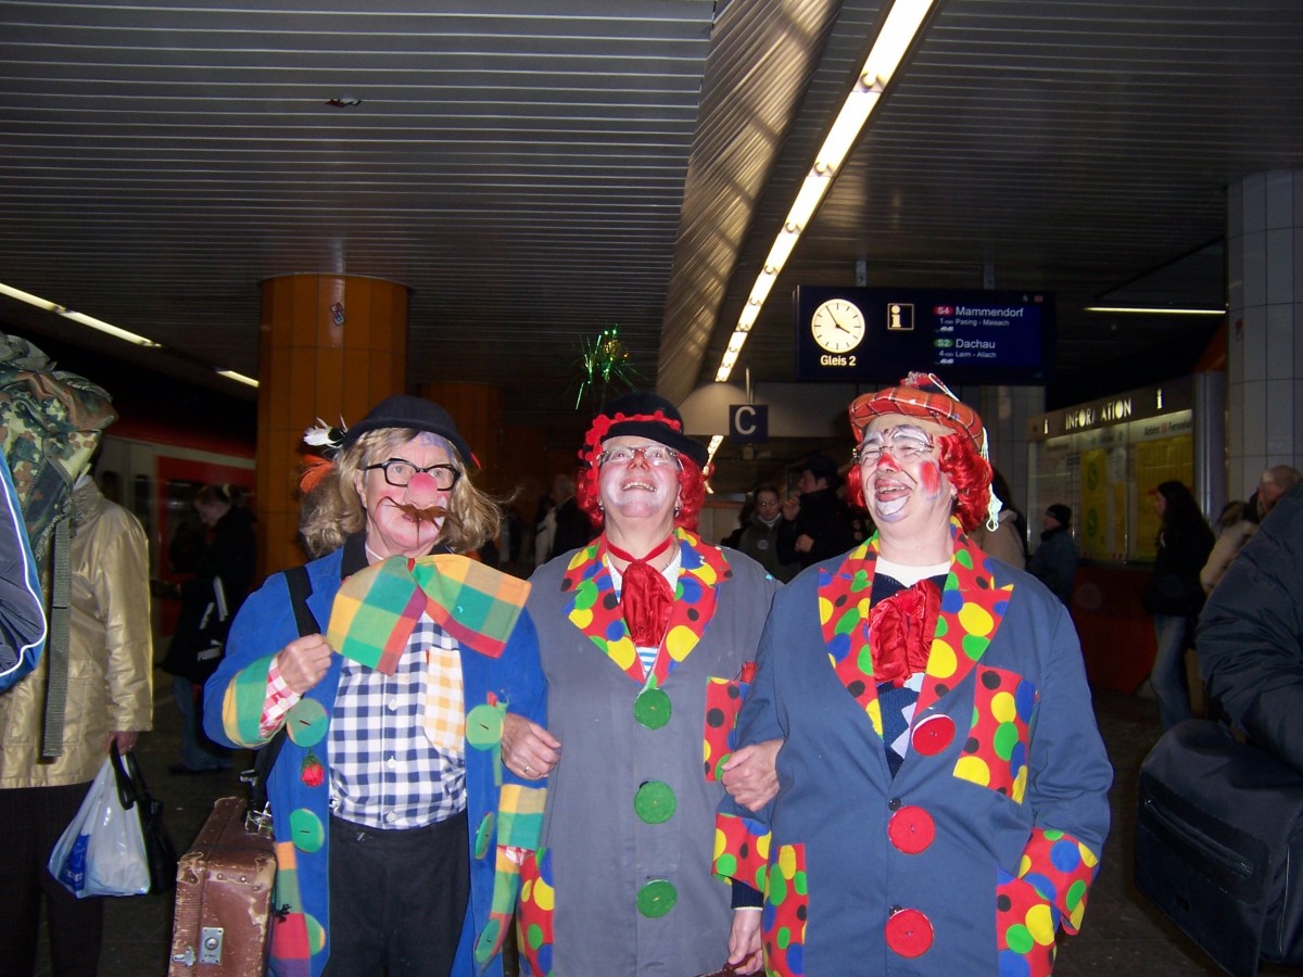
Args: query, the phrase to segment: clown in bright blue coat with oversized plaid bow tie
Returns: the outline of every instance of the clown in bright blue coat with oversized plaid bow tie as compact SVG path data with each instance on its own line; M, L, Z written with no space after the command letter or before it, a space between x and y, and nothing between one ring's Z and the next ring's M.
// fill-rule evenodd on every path
M205 687L205 727L258 748L276 832L272 974L502 974L545 791L504 771L507 703L542 719L528 585L463 554L498 528L438 404L390 397L313 430L300 634L284 573L250 594ZM328 623L328 627L327 627Z

